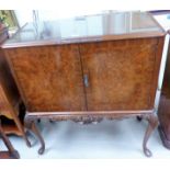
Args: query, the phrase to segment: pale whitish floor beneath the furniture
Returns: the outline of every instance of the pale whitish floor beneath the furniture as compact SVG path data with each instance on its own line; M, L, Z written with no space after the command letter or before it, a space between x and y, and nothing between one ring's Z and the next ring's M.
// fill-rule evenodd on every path
M27 148L22 138L10 136L22 159L146 158L141 148L147 127L145 120L104 120L97 125L80 125L69 121L49 123L43 120L38 127L46 143L46 150L42 156L37 154L39 143L32 134L29 134L32 148ZM152 151L152 158L170 158L170 150L162 146L157 131L151 135L148 147ZM0 148L5 149L1 140Z

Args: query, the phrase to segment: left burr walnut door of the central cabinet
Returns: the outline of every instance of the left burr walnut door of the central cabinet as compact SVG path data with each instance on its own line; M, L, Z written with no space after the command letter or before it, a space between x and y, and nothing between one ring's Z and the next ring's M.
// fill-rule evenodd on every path
M30 112L86 110L77 45L20 47L5 54Z

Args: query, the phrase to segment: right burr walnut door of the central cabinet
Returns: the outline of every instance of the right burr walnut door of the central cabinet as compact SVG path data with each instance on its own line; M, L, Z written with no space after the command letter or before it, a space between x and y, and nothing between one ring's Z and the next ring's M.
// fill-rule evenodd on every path
M152 109L157 43L141 38L81 44L88 110Z

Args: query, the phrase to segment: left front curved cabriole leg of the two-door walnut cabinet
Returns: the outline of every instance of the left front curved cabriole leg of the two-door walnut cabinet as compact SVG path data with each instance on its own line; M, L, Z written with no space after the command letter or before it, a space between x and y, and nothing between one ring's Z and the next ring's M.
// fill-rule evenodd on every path
M36 127L35 121L36 121L35 118L33 118L29 115L25 115L24 124L25 124L25 127L27 129L30 129L31 132L33 132L35 134L35 136L39 139L41 148L38 149L38 154L42 155L42 154L44 154L44 150L45 150L45 143L44 143L44 139L43 139L39 131Z

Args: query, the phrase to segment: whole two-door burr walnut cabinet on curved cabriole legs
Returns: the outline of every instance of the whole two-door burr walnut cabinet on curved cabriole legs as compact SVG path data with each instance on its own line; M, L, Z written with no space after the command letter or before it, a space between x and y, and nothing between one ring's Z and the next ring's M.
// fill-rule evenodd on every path
M84 124L143 116L143 148L158 124L155 97L165 31L145 12L114 12L26 24L3 44L26 105L25 125L45 144L35 121Z

